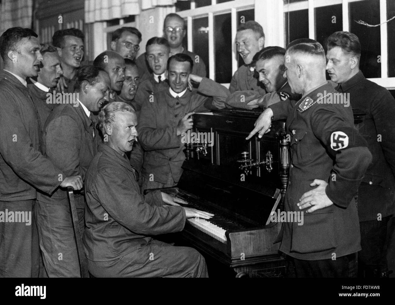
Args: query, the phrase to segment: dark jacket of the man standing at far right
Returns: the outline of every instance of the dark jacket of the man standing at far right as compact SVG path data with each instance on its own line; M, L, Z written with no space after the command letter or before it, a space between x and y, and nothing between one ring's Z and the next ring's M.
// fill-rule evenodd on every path
M373 161L358 189L359 221L395 213L395 100L359 71L337 87L349 94L352 108L367 114L357 128L368 143Z

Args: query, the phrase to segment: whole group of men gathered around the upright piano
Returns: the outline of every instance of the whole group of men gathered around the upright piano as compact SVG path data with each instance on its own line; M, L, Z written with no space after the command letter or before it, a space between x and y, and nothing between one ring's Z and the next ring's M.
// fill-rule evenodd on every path
M122 27L111 50L85 66L80 30L55 32L52 45L40 45L27 28L2 34L0 211L28 211L33 221L0 218L0 277L80 276L69 186L93 277L207 277L198 251L153 236L213 214L143 190L177 185L191 115L225 107L264 109L247 139L262 137L271 120L286 120L284 210L305 217L302 226L285 222L278 241L295 275L354 277L358 269L361 277L387 277L395 101L359 70L357 36L333 33L325 55L305 38L286 49L264 47L260 24L242 23L235 43L244 64L228 89L208 79L199 55L182 45L179 15L167 15L163 34L135 59L141 33ZM63 95L50 103L54 91ZM351 107L323 102L339 92L349 93ZM361 123L352 108L366 113Z

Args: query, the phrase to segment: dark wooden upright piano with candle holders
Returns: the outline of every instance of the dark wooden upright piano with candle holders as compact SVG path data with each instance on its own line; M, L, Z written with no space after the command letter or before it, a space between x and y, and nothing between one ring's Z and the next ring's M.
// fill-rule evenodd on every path
M281 209L285 194L289 141L282 121L273 122L261 139L246 141L260 113L232 109L195 114L181 179L166 190L188 207L214 214L208 220L188 219L181 232L183 245L195 247L206 261L233 270L236 277L286 273L285 257L275 243L281 224L271 221L271 212ZM260 162L264 164L241 168ZM210 275L210 267L208 271Z

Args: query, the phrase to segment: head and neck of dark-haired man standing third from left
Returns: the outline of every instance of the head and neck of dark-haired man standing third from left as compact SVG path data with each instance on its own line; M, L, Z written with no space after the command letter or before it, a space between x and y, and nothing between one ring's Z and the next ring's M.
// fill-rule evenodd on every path
M62 60L63 76L58 83L58 91L73 93L74 76L84 57L84 34L77 28L57 30L52 36L52 45L58 49Z

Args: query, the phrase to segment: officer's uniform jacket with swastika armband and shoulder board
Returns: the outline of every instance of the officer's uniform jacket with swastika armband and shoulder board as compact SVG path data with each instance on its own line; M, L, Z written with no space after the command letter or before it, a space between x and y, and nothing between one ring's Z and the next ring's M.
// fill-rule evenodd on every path
M372 155L354 130L351 107L320 103L320 94L335 92L327 83L302 100L269 106L275 120L286 119L292 135L284 211L308 209L300 210L297 203L305 192L316 188L310 186L314 179L328 183L325 192L333 202L304 213L303 225L283 223L280 251L301 260L331 259L333 253L340 257L361 249L354 196Z

